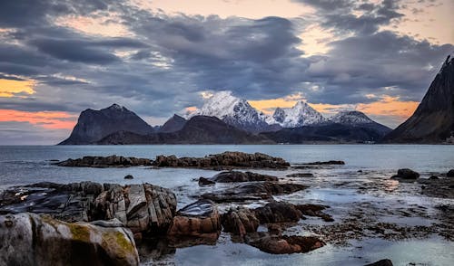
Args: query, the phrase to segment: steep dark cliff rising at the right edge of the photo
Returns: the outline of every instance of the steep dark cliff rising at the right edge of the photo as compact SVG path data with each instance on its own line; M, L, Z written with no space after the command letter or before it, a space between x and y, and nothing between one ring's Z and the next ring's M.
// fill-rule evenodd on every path
M454 54L448 56L415 113L385 138L390 143L441 143L454 134Z

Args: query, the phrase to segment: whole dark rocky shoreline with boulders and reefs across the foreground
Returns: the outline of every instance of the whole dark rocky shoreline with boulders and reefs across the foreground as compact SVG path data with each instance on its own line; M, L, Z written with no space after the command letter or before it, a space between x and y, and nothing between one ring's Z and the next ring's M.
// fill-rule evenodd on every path
M337 210L326 204L282 200L311 188L311 179L317 176L307 171L343 164L327 161L291 166L281 158L237 152L202 158L157 157L154 161L133 157L64 161L60 166L200 167L229 171L195 179L201 192L193 195L194 201L180 210L172 190L151 184L80 182L10 187L0 195L0 241L7 243L0 245L0 259L10 262L7 264L17 261L25 265L31 260L43 260L44 250L38 245L43 242L47 247L48 239L62 243L61 247L48 247L55 253L56 264L67 264L64 261L67 257L57 255L58 249L62 249L71 256L89 251L91 260L99 265L137 265L140 256L159 258L175 248L215 245L225 233L231 235L232 242L242 242L271 254L311 252L326 244L343 245L352 239L370 237L400 240L438 234L452 241L454 223L449 204L437 207L439 223L402 226L374 221L374 215L386 216L391 211L371 203L352 203L348 213L339 216ZM281 178L232 168L286 168L296 173ZM301 169L306 172L300 172ZM389 180L403 182L403 186L420 185L420 195L452 199L452 172L420 178L419 173L400 169ZM262 204L253 206L258 202ZM392 210L392 215L399 217L428 217L426 213L421 206ZM312 222L306 223L307 219ZM301 230L310 234L300 235ZM19 234L25 237L15 241ZM11 252L9 245L23 250L28 257ZM70 248L74 245L80 248Z

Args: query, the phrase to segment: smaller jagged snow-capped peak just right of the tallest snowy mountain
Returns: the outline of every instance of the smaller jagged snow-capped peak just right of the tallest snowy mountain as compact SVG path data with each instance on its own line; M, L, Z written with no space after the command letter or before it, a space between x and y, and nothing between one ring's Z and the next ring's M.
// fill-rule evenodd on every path
M269 124L279 124L282 128L299 128L321 124L325 120L321 113L301 100L292 108L275 109L272 117L269 117L266 121Z

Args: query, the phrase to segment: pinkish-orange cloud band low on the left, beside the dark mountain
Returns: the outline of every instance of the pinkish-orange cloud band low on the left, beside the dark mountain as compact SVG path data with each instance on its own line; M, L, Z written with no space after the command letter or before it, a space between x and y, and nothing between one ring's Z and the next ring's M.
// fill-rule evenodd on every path
M28 122L49 129L72 129L77 116L60 111L27 112L15 109L0 109L0 122Z

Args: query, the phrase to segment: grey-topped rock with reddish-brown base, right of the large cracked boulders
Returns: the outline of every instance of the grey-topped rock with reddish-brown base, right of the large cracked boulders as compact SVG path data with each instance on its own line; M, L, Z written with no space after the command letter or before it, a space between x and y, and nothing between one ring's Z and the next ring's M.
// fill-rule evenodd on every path
M167 235L171 238L217 239L220 233L221 218L216 205L210 200L202 199L177 212Z

